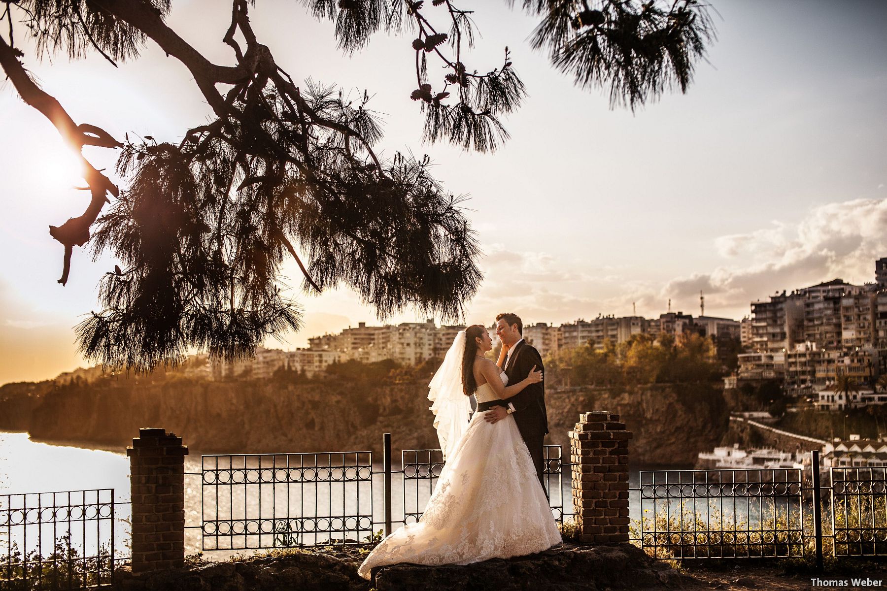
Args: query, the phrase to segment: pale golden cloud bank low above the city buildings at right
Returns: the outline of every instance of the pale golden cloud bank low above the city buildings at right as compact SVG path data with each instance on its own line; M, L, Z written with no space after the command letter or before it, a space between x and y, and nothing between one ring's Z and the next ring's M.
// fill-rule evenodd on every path
M472 315L509 309L527 322L563 323L599 313L658 317L672 310L697 314L699 293L706 312L740 318L750 302L840 277L872 281L875 260L887 256L887 199L854 199L816 206L797 222L769 222L744 234L718 237L713 245L725 264L671 281L653 283L590 268L585 261L547 253L488 247L486 280ZM740 263L742 261L742 264ZM614 272L616 271L616 272ZM687 309L689 308L689 309Z

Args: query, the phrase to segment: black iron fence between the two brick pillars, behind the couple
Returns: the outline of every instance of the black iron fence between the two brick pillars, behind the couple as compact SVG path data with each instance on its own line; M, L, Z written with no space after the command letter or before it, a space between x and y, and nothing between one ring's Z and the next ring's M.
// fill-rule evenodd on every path
M545 459L546 493L562 521L570 464L561 446L546 446ZM396 467L386 434L381 464L369 451L204 455L201 464L202 549L288 548L358 543L418 521L443 454L406 449Z

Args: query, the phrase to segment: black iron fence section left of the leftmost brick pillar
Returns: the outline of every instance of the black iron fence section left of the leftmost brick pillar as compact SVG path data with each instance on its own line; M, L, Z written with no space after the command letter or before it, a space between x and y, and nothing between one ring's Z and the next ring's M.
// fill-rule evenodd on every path
M112 586L129 506L114 489L0 494L0 588Z

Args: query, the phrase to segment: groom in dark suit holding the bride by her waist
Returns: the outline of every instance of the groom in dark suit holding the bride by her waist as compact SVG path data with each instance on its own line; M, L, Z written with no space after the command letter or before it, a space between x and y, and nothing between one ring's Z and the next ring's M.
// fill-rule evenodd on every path
M500 314L496 316L496 334L502 344L509 347L503 368L508 376L508 384L517 384L527 377L534 365L545 376L542 357L536 347L523 340L522 333L523 323L518 315ZM533 458L533 465L536 466L539 483L544 490L546 485L542 472L545 462L543 461L542 447L543 440L548 434L545 383L528 385L521 393L515 394L507 402L511 403L508 405L509 408L494 406L487 411L484 419L488 423L496 423L506 416L514 414L514 422L517 424L518 431L521 432L524 443L530 450L530 457ZM483 408L478 409L483 410Z

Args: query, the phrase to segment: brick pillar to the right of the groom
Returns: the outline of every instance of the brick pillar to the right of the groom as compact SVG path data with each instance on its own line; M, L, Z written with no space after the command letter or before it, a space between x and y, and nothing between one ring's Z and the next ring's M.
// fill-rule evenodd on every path
M619 415L579 415L569 432L573 510L583 543L628 541L628 440Z

